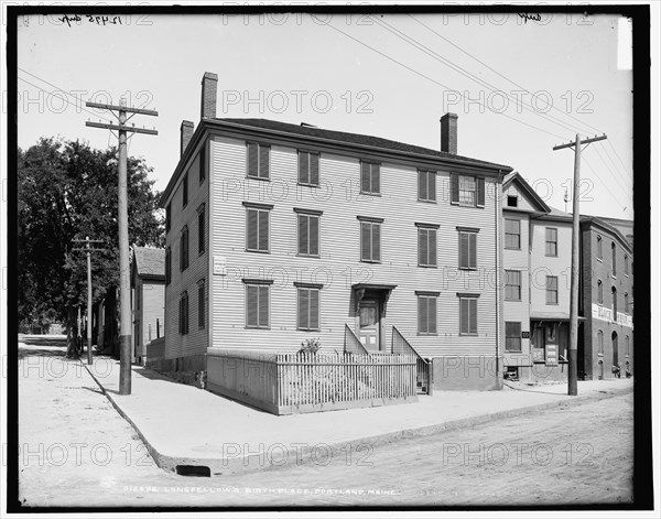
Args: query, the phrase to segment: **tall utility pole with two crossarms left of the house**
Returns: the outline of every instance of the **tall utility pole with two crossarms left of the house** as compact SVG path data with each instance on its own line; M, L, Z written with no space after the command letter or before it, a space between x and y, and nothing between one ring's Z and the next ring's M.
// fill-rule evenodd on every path
M127 195L127 132L145 133L148 136L158 136L159 132L145 128L136 128L127 126L127 121L136 113L143 116L158 116L155 110L145 110L143 108L127 107L124 98L117 105L105 105L100 102L87 101L85 106L90 108L100 108L110 110L112 115L117 111L118 125L87 121L85 126L91 128L102 128L106 130L116 130L119 136L119 159L118 159L118 224L119 224L119 394L131 394L131 292L129 280L129 213ZM131 113L127 118L127 113Z

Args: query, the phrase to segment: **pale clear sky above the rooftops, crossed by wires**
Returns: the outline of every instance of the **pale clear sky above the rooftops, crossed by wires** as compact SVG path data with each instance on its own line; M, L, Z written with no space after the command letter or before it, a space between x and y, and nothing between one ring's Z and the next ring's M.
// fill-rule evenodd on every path
M53 136L116 144L109 131L85 126L112 116L84 102L124 96L129 106L159 111L131 120L159 134L136 134L129 154L143 156L164 190L181 122L198 122L201 80L213 72L217 117L306 122L440 149L438 120L454 112L460 155L510 165L560 209L565 190L571 195L574 153L553 147L605 133L582 153L581 213L633 218L631 25L618 15L120 18L106 25L87 17L71 26L57 15L20 21L21 148Z

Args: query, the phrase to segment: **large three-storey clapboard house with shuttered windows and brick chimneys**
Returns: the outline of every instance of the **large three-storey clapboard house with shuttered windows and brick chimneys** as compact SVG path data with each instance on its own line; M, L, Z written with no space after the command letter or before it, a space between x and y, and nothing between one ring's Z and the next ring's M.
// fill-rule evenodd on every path
M500 388L501 183L511 169L441 150L266 119L181 127L166 210L166 369L215 350L375 355L394 333L432 359L436 388ZM213 382L209 372L209 382Z

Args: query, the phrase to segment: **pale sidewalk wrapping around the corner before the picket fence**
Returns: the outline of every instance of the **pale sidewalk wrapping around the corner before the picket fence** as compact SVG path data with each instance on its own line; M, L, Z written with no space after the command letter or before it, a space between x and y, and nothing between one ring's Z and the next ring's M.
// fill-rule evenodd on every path
M282 466L313 451L359 452L361 445L373 447L633 390L632 379L579 381L578 397L566 394L566 383L507 382L502 391L436 391L420 396L416 403L275 417L142 367L133 367L131 394L120 396L118 361L98 357L95 365L85 366L159 466L202 466L212 475Z

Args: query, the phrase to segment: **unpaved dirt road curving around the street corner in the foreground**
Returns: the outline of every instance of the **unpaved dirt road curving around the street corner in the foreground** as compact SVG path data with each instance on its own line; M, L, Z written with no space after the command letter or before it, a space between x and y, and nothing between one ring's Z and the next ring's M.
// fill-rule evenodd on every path
M319 452L315 459L282 468L185 477L155 466L87 371L64 359L64 347L24 340L19 482L25 507L578 505L632 499L631 393L335 458Z

